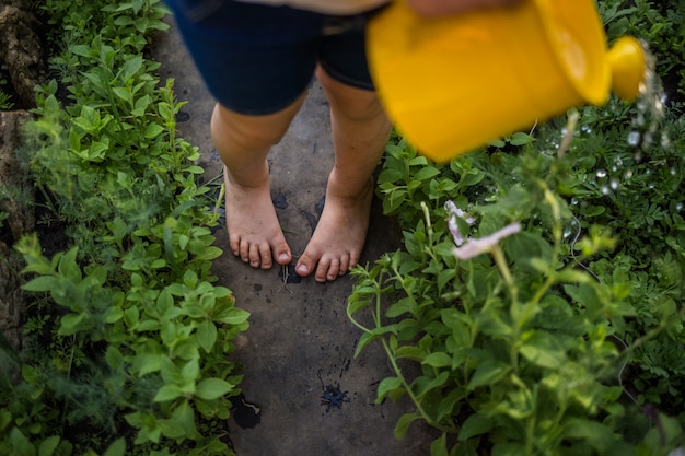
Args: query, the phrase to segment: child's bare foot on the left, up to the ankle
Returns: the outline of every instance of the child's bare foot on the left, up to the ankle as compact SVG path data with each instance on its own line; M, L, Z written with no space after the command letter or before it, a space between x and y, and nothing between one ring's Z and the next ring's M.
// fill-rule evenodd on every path
M264 165L268 166L266 162ZM289 264L292 254L276 217L268 178L263 185L245 187L232 182L224 167L223 180L227 229L233 255L253 268L270 269L272 259L279 265Z

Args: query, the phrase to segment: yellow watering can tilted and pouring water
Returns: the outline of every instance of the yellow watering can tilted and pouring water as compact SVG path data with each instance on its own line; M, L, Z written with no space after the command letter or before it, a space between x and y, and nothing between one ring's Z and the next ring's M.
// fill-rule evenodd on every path
M449 161L609 91L639 94L645 52L611 50L594 0L524 0L440 19L393 2L368 28L371 73L388 116L428 157Z

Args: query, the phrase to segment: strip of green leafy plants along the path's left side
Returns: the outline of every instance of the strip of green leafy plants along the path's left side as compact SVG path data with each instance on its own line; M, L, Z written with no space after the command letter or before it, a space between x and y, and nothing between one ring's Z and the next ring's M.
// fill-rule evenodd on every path
M216 287L219 206L176 137L173 81L143 50L159 0L39 4L60 80L36 95L30 160L70 246L15 245L35 296L19 378L0 388L0 453L229 455L218 423L240 393L232 339L248 326ZM63 38L63 39L62 39ZM221 198L221 196L219 196Z

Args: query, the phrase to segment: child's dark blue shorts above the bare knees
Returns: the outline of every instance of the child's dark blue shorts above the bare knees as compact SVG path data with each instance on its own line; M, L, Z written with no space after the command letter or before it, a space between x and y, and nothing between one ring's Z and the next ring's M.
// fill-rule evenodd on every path
M229 109L286 108L306 90L317 62L337 81L373 90L364 28L380 9L332 16L231 0L166 3L209 92Z

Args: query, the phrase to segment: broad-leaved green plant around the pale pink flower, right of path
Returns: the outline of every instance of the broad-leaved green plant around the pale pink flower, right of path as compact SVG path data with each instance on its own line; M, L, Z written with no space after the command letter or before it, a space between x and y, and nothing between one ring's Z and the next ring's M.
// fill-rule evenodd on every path
M427 421L442 431L432 455L665 454L680 443L681 424L660 416L663 429L650 429L624 394L620 367L674 315L624 346L636 312L630 283L597 280L584 266L612 252L615 238L596 226L578 238L569 231L578 224L564 195L572 195L573 161L526 143L527 152L468 155L449 167L419 160L402 140L390 148L386 166L422 162L420 176L432 177L381 174L383 195L414 187L393 210L405 221L415 214L415 226L404 232L406 252L355 271L348 315L362 330L358 352L380 340L395 371L378 400L408 396L417 411L400 418L396 436ZM472 174L480 177L458 185ZM445 175L452 191L439 184ZM503 247L488 237L511 222L521 232ZM455 250L472 232L483 238ZM361 324L360 313L373 324ZM407 362L420 373L406 374Z

